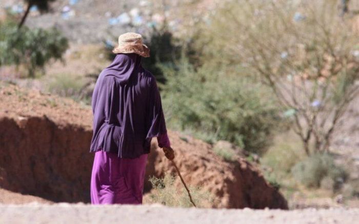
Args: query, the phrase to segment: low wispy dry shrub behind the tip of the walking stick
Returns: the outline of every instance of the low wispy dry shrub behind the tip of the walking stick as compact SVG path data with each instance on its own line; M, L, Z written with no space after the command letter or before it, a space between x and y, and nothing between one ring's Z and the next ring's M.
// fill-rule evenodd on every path
M186 189L183 186L177 189L174 185L175 177L171 174L166 174L163 178L152 176L149 181L153 187L150 193L152 203L170 207L192 207ZM213 197L209 192L201 190L200 187L189 186L189 189L197 207L212 207Z

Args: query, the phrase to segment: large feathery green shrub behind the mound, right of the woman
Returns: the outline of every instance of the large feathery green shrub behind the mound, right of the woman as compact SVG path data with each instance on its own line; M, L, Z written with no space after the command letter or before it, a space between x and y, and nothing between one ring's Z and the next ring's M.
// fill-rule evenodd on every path
M278 120L264 86L210 64L195 71L186 60L178 69L163 66L163 70L164 108L173 128L206 133L247 151L265 151Z

